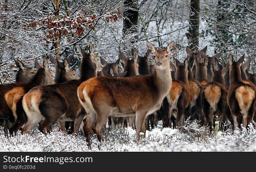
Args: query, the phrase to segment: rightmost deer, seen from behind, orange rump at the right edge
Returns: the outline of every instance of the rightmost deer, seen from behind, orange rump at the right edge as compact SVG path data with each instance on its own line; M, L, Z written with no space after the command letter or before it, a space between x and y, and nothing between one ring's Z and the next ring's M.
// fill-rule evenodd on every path
M242 118L243 126L247 127L255 114L256 88L242 81L240 67L243 60L244 55L237 62L234 61L231 54L229 55L230 88L227 104L233 117L235 129L238 127L237 119Z

